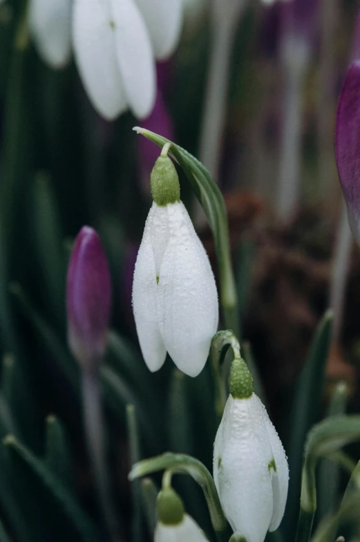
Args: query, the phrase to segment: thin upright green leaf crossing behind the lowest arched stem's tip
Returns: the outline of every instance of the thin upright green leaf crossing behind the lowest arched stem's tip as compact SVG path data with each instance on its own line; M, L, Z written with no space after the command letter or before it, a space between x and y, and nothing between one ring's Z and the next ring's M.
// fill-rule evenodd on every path
M129 436L131 465L140 460L140 438L138 424L136 422L135 407L133 404L126 406L126 420ZM133 542L142 542L142 494L140 480L134 480L131 485L133 496Z

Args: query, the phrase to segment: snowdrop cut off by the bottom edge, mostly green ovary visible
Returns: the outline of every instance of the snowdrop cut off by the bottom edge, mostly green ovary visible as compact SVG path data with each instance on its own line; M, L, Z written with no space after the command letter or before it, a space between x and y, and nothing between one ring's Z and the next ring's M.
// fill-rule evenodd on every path
M184 505L173 489L160 492L157 507L154 542L209 542L193 518L184 514Z

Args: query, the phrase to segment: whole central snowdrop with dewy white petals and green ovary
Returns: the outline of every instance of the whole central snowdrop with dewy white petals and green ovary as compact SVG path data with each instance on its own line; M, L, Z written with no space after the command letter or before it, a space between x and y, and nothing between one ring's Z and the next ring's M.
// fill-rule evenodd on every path
M151 172L153 206L135 265L133 312L150 371L158 371L169 352L183 373L195 377L218 327L218 295L168 150L167 144Z

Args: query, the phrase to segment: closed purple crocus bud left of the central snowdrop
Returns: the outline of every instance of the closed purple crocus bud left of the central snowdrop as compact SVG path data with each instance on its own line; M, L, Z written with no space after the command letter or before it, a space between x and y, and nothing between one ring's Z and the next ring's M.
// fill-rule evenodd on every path
M93 370L104 356L111 312L111 279L99 236L80 230L70 256L66 306L68 344L83 368Z

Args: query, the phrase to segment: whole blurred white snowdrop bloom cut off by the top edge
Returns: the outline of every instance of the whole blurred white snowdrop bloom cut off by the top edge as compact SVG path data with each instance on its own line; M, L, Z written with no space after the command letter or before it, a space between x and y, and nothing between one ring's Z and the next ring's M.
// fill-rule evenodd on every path
M182 0L30 0L29 24L53 68L65 66L73 48L100 115L111 120L130 108L141 119L155 102L155 59L178 43Z

